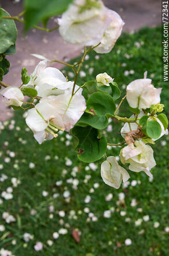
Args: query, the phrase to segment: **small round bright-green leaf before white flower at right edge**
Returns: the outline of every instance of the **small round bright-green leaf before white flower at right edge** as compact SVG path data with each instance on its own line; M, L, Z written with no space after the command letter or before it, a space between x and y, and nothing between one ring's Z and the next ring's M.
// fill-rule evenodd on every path
M161 126L157 121L148 121L146 133L150 138L159 138L161 135Z

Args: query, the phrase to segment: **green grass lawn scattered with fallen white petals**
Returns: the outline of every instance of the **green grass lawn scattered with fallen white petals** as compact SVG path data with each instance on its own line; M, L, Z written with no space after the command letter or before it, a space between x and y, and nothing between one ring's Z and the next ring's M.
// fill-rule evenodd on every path
M163 87L161 103L166 105L165 112L168 112L167 84L161 84L160 40L160 28L123 34L110 54L89 54L78 84L106 72L115 78L123 97L126 85L143 78L148 70L148 77L152 78L155 87ZM70 72L65 69L71 80ZM120 115L130 116L126 102L120 108ZM113 131L106 132L108 142L118 143L122 140L119 134L122 123L111 122L110 125ZM130 184L115 190L101 179L100 165L104 159L95 163L95 171L91 170L92 166L76 157L68 133L39 145L25 124L23 112L17 111L12 120L1 125L1 129L0 251L5 248L15 256L169 255L169 232L166 229L169 229L169 150L166 136L153 145L157 163L152 170L153 180L149 180L145 173L130 171ZM119 150L108 148L106 155L118 156ZM13 187L13 177L20 181L17 187ZM64 191L69 191L69 197L64 197L68 194ZM13 198L5 200L4 194L5 197L12 194ZM113 195L110 201L105 200L108 194ZM111 210L110 218L104 217L106 210ZM65 216L60 211L64 211ZM16 221L6 223L3 212L9 212ZM67 233L54 239L53 233L61 233L61 228ZM80 243L72 237L73 229L79 230ZM32 239L25 242L24 233L30 233ZM131 239L130 246L125 245L126 239ZM43 244L42 251L34 249L38 241Z

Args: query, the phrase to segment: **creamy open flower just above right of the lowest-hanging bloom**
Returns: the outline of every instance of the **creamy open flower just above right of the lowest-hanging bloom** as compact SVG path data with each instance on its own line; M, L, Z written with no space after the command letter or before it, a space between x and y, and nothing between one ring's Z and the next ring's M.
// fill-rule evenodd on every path
M133 170L133 172L143 171L149 177L152 177L150 169L156 165L152 148L141 140L122 148L120 151L120 161L123 164L130 163L129 169Z

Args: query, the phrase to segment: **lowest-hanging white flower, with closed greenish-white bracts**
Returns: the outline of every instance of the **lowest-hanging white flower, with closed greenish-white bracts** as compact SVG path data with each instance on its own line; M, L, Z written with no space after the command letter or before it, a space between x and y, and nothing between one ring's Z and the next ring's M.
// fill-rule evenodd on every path
M130 175L127 170L117 163L115 157L108 157L101 164L101 177L107 185L119 189L122 180L123 182L127 182Z

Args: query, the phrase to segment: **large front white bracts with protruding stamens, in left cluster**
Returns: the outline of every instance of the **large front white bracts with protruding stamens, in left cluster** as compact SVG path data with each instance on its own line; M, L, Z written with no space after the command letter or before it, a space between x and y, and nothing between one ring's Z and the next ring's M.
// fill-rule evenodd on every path
M78 91L72 97L71 90L61 95L52 95L42 98L35 108L28 111L26 123L34 132L34 137L39 144L43 140L57 137L52 130L69 131L78 122L86 109L86 102ZM51 123L52 122L52 123Z

